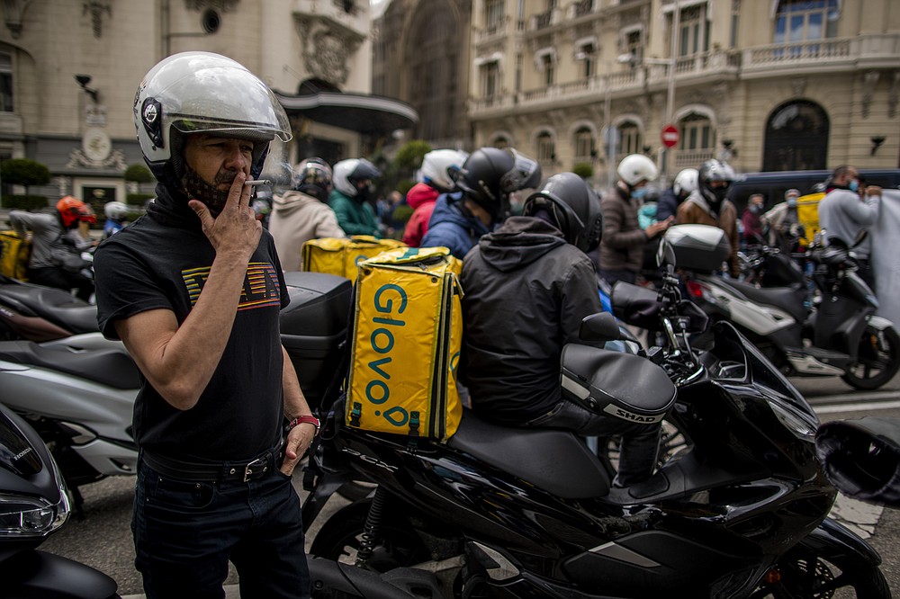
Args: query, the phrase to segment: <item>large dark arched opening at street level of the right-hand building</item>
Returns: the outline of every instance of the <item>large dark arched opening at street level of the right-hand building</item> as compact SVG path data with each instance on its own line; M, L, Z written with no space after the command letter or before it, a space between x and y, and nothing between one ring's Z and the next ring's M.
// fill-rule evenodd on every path
M798 171L826 168L828 115L808 100L781 104L766 123L763 146L764 171Z

